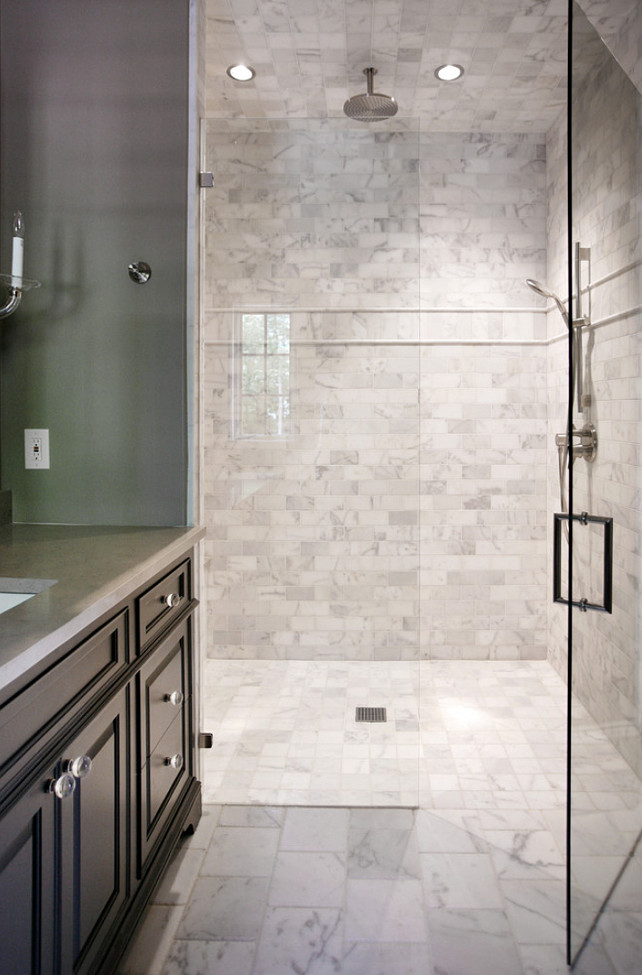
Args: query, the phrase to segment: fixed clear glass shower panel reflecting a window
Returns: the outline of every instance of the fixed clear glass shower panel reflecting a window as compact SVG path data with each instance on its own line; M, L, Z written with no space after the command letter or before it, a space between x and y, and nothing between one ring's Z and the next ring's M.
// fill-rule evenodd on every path
M261 689L247 800L417 805L418 126L210 119L202 143L206 653Z

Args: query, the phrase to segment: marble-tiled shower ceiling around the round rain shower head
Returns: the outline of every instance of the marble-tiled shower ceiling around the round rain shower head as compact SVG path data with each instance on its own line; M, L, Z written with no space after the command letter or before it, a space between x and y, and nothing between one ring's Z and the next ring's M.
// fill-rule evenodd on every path
M611 15L628 2L610 0ZM566 11L567 0L206 0L207 115L340 116L372 64L400 115L442 131L545 132L565 100ZM225 75L237 60L254 81ZM446 61L464 66L460 81L437 80Z

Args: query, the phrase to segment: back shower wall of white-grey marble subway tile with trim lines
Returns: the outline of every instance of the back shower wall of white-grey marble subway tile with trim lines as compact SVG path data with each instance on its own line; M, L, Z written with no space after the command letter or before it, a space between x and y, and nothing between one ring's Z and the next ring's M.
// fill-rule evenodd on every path
M206 142L208 655L544 656L542 140L217 120ZM289 316L278 436L239 435L257 312Z

